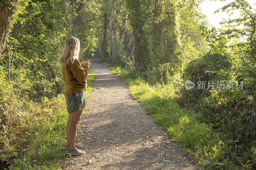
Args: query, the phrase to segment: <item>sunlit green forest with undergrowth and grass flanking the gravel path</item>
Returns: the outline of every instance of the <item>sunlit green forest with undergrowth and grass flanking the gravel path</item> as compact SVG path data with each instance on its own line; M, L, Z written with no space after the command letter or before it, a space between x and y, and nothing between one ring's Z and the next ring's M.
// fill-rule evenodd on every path
M0 0L0 164L60 169L67 115L57 60L75 36L80 61L99 58L119 75L200 166L256 169L256 11L246 0L220 6L230 19L218 29L202 2ZM90 71L87 97L94 79Z

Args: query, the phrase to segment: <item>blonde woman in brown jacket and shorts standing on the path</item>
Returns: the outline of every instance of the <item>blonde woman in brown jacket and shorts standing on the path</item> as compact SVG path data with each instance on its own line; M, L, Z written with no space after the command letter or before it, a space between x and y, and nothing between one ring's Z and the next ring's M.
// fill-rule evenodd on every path
M79 150L82 145L75 144L77 124L86 105L84 91L87 89L87 76L90 61L80 63L78 54L80 41L76 37L69 37L58 59L62 64L63 80L66 83L64 96L68 108L68 122L66 126L67 146L69 155L82 155L85 152Z

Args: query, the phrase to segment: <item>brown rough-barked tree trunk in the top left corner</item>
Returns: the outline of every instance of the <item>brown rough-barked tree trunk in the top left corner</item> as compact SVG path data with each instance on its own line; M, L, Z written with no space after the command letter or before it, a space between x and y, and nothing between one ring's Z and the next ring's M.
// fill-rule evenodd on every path
M0 56L2 55L4 44L10 32L12 16L14 15L17 0L6 1L0 5Z

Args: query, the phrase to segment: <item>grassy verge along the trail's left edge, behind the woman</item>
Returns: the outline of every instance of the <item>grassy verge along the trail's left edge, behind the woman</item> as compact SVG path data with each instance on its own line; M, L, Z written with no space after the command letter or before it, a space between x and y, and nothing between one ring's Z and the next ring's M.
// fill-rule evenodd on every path
M90 97L94 73L89 72L86 98ZM0 157L7 159L15 170L60 169L66 157L66 123L68 113L64 94L39 103L29 103L26 110L17 110L12 127L4 127L0 136L3 147ZM23 151L27 149L27 151ZM23 152L22 152L23 151Z

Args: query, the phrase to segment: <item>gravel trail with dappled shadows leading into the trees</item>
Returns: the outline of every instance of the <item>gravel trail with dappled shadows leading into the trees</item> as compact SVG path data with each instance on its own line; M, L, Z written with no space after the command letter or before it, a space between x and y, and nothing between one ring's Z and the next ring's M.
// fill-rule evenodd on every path
M117 75L111 75L97 59L91 69L97 78L77 131L77 142L84 145L86 154L71 156L63 168L201 169L193 157L182 153L180 144L164 135L163 127L130 96ZM89 160L92 163L87 165Z

